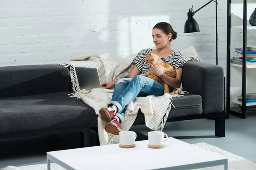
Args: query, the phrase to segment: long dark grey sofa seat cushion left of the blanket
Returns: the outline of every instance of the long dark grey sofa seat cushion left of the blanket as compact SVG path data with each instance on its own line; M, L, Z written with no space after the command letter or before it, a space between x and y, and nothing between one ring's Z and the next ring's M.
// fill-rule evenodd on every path
M93 108L70 92L0 98L0 133L96 127Z

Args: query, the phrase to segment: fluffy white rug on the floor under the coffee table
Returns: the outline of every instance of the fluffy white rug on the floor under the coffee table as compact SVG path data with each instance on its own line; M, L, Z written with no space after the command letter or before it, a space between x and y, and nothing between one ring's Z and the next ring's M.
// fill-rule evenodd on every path
M248 159L244 159L240 156L236 156L233 153L227 152L218 147L209 145L207 143L196 143L193 145L227 157L228 170L256 170L255 162L250 161ZM8 166L6 168L3 168L3 170L47 170L47 164L36 164L36 165L21 166L21 167ZM65 169L60 167L58 164L51 164L51 170L65 170ZM222 165L222 166L215 166L215 167L200 168L197 170L224 170L224 166Z

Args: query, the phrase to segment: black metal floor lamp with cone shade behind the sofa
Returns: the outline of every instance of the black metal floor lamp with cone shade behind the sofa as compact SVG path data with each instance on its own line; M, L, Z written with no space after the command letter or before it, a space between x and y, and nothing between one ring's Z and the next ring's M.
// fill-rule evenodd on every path
M211 3L212 1L215 2L215 15L216 15L216 65L218 65L218 28L217 28L217 0L210 0L207 4L205 4L204 6L202 6L201 8L199 8L198 10L196 10L195 12L193 11L193 6L192 8L189 8L188 11L188 19L186 20L186 23L184 25L184 33L192 33L192 32L199 32L199 26L198 23L196 22L196 20L194 19L194 15L197 11L199 11L200 9L204 8L205 6L207 6L209 3Z

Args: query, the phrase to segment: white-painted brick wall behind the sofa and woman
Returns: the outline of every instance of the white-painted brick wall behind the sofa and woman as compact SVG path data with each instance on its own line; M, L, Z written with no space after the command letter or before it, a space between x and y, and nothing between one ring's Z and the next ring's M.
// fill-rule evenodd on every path
M253 0L251 0L253 1ZM195 15L201 32L183 34L189 8L201 0L1 0L0 66L61 63L70 57L99 53L102 57L134 57L154 48L152 27L171 23L177 31L172 48L194 46L206 62L215 63L215 3ZM233 15L241 22L242 4L235 1ZM250 2L250 1L249 1ZM248 19L252 7L248 6ZM241 8L241 9L240 9ZM236 10L239 9L239 10ZM218 2L219 65L226 67L227 0ZM240 47L242 30L232 30L231 48ZM248 33L248 43L256 32Z

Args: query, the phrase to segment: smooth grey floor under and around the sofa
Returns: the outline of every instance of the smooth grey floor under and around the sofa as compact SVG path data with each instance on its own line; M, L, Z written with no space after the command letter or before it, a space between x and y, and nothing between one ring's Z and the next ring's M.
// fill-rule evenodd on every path
M255 122L256 111L248 111L246 119L230 116L226 119L224 138L209 137L214 135L214 121L210 119L168 122L163 131L169 137L207 136L180 140L190 144L205 142L256 162ZM150 131L145 125L134 126L131 130L137 133L137 140L146 140ZM0 169L8 165L46 163L47 151L76 147L79 147L78 133L0 140Z

